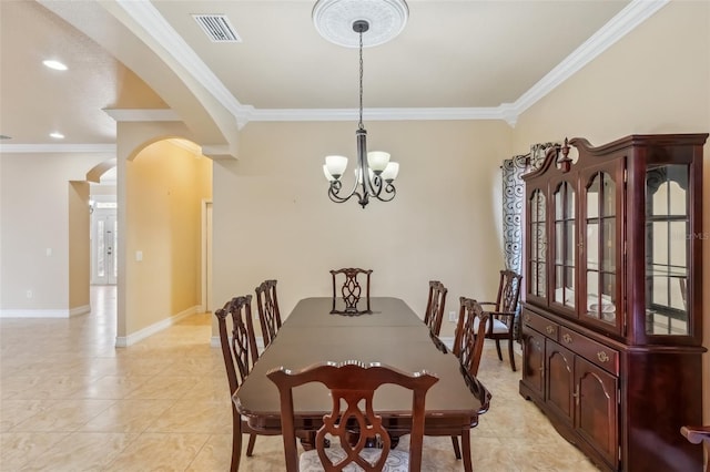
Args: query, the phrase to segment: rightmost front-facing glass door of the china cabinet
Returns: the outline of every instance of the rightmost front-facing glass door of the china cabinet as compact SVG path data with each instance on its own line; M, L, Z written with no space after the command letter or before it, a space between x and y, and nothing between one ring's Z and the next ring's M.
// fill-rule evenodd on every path
M592 174L586 187L585 309L588 318L617 324L616 183L607 172Z

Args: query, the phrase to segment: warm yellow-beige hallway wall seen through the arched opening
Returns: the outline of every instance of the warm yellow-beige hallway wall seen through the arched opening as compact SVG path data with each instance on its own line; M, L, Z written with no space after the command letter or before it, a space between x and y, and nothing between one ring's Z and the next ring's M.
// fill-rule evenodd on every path
M212 162L160 141L125 164L125 332L131 335L194 312L201 304L200 225L202 201L211 198Z

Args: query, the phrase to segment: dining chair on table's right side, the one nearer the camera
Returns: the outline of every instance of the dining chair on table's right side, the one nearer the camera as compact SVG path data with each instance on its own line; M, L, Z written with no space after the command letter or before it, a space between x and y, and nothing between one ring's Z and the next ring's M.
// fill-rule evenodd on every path
M454 356L458 357L462 368L474 378L478 373L478 366L480 365L488 318L488 312L484 311L478 301L473 298L459 298L458 322L456 324L453 352ZM452 435L452 444L454 445L456 459L462 459L458 435ZM462 445L464 448L464 456L467 461L470 460L470 441L468 439L462 440Z

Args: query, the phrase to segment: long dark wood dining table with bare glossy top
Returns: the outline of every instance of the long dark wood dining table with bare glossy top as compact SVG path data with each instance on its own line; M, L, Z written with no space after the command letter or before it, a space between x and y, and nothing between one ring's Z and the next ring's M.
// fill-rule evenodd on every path
M470 450L466 447L469 431L478 424L478 415L488 410L490 392L468 376L440 342L435 342L438 340L403 300L371 298L371 314L331 314L332 308L331 297L304 298L284 320L276 338L234 393L236 409L248 425L264 434L281 430L278 390L266 377L274 368L300 370L317 362L356 360L410 372L426 370L439 381L426 396L425 434L460 435L464 469L470 471ZM407 433L410 401L410 396L398 387L383 386L377 390L374 408L393 435ZM294 391L296 429L317 430L331 408L324 386L300 387Z

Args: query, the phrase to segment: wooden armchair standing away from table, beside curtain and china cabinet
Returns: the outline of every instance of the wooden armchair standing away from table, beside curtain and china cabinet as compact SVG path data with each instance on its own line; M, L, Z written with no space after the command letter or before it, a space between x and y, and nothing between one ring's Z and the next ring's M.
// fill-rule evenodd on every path
M486 329L486 338L496 341L498 359L503 361L500 340L508 341L508 358L510 368L515 372L515 356L513 353L515 316L518 312L520 301L520 284L523 276L513 270L500 270L498 295L496 301L480 301L480 305L490 315L490 322ZM488 309L487 307L493 307Z

